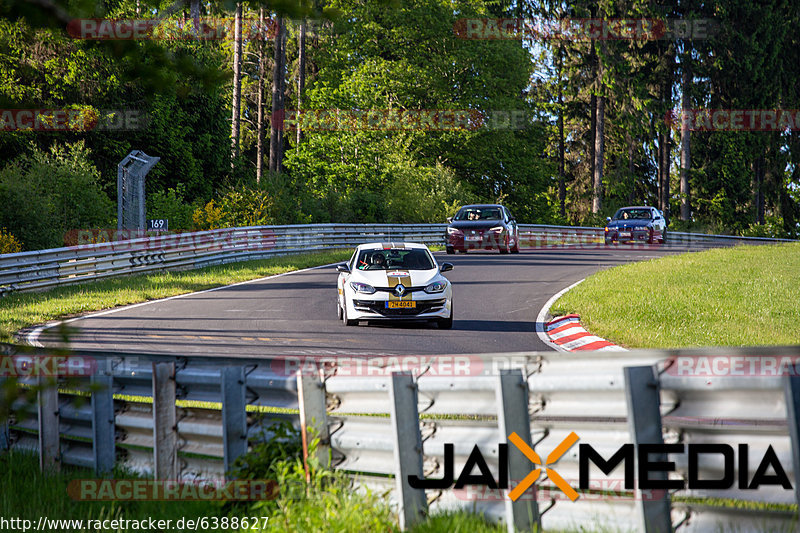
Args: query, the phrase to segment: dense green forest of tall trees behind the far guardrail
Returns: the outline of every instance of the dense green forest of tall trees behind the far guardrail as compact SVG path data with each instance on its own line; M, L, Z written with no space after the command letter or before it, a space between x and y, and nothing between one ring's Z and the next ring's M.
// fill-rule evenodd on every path
M0 3L0 253L116 227L443 222L796 237L800 3Z

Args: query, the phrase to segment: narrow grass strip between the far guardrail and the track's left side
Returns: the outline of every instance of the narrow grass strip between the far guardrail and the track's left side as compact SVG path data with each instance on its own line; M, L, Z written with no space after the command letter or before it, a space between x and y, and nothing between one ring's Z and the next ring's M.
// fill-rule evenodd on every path
M17 331L50 320L336 263L345 261L352 253L352 250L333 250L289 255L11 294L0 298L0 342L12 342Z

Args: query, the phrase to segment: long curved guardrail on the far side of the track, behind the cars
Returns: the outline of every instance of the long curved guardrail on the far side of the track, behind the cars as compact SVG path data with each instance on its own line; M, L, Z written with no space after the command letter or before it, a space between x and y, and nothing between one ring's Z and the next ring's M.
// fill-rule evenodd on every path
M310 224L226 228L79 244L0 255L0 296L109 277L352 248L369 241L443 245L445 224ZM523 248L603 244L602 228L520 224ZM670 233L687 247L778 242L779 239Z

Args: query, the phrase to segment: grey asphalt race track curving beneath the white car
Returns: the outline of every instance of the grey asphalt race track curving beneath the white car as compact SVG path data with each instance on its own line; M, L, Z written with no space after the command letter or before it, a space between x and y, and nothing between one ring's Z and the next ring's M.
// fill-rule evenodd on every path
M614 246L470 252L455 265L452 330L425 323L345 327L334 267L292 273L71 321L73 348L177 355L457 354L549 350L536 316L556 292L593 272L684 247ZM55 343L54 329L39 341Z

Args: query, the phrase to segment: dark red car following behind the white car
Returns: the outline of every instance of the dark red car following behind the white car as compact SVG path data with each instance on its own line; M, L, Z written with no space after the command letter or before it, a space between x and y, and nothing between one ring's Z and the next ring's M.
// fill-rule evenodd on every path
M465 205L447 222L447 253L458 250L499 250L519 253L519 229L511 212L500 204Z

